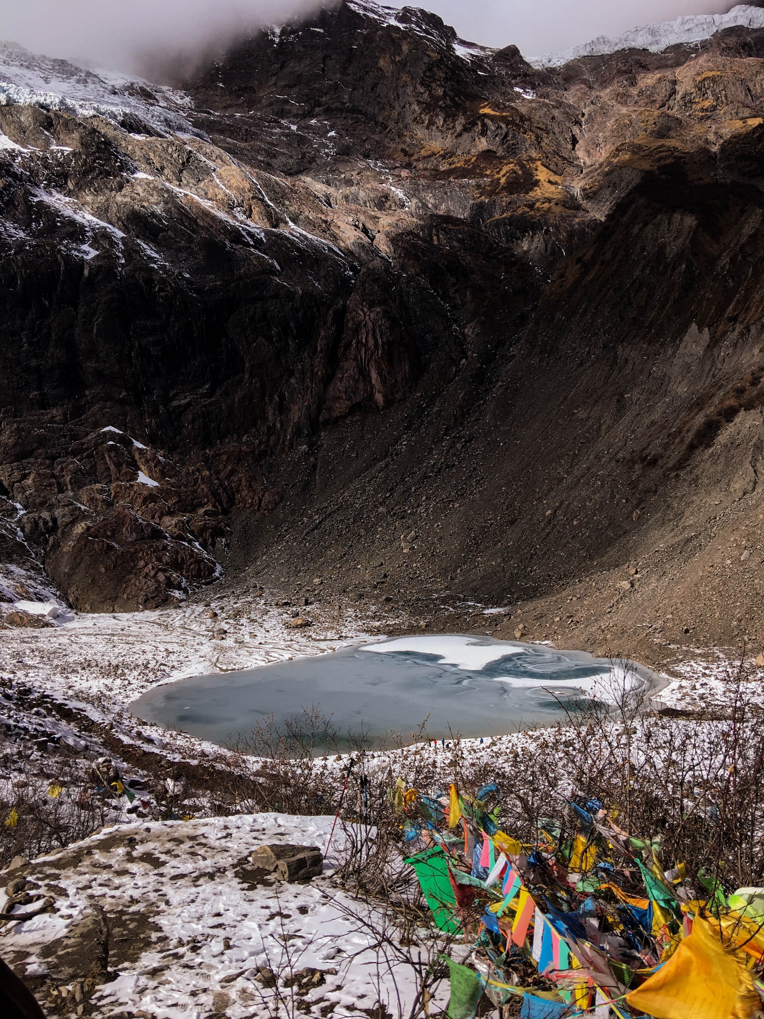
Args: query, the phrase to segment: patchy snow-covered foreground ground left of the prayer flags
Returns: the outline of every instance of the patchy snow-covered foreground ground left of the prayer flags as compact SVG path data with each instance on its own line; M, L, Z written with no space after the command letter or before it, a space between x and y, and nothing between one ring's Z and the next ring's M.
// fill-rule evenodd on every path
M250 864L250 854L265 844L323 851L332 822L262 813L107 828L33 864L36 892L53 899L54 911L6 926L3 956L31 977L52 973L59 980L62 946L64 964L83 941L95 958L93 927L103 904L111 927L108 968L116 979L92 997L80 986L76 1000L88 1000L89 1014L140 1006L139 1015L156 1019L211 1012L243 1019L275 1015L278 996L287 1015L312 1007L315 1014L362 1016L378 1002L396 1019L407 1015L417 980L402 957L413 951L415 958L434 958L437 935L423 931L423 945L402 950L400 931L385 923L379 905L364 905L332 882L343 859L341 828L324 873L310 883L276 883ZM0 909L5 901L0 893ZM383 927L392 944L381 943ZM258 980L262 969L277 977L276 988L262 975ZM56 1004L65 1002L60 990L74 1004L74 982L61 981ZM447 983L434 1005L442 1009L446 1000Z

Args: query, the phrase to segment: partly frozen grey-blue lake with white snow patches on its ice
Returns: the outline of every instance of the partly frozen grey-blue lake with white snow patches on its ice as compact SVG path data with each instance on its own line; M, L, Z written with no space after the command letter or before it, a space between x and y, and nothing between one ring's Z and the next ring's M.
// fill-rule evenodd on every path
M403 742L427 719L431 739L498 736L563 716L567 702L609 700L649 673L582 651L488 637L401 637L239 673L196 676L157 687L132 712L214 743L230 744L273 716L316 707L331 716L341 745Z

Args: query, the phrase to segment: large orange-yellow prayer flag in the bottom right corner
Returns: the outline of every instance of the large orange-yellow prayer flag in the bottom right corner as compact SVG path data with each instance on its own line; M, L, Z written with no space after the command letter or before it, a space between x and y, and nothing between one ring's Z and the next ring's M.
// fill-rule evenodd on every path
M696 917L693 932L626 1003L655 1019L749 1019L759 1007L753 975L718 927Z

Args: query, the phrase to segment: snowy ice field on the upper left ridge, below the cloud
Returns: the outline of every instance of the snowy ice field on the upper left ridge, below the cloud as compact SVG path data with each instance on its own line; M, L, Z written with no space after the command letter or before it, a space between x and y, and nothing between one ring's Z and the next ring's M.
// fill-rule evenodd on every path
M115 122L132 115L162 132L198 133L183 116L190 106L183 93L114 71L86 70L13 43L0 43L0 105L11 103Z

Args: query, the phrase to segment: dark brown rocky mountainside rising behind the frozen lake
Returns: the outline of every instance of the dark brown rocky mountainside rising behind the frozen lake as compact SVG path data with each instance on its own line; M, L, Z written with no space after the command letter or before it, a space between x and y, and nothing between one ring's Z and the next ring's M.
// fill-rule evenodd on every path
M225 571L653 660L764 639L762 56L541 68L363 0L172 89L6 47L8 608Z

